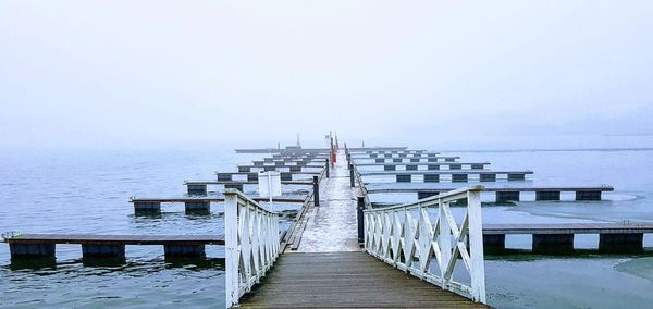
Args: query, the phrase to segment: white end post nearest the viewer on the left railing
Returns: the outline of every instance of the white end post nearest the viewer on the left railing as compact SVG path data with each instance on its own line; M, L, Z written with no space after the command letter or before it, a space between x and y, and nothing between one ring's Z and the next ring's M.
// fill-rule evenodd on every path
M224 247L226 264L226 308L238 304L238 196L225 194Z

